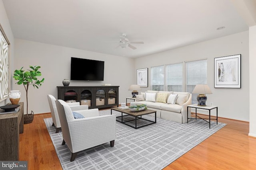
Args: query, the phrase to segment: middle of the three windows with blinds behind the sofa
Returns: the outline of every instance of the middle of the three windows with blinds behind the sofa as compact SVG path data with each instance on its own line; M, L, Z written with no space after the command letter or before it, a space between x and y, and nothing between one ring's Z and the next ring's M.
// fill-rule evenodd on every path
M167 91L182 92L182 63L166 66Z

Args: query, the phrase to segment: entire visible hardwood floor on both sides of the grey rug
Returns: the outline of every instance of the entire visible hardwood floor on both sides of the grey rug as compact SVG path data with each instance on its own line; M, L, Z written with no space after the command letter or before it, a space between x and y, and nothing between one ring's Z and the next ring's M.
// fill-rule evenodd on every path
M28 161L28 170L61 170L62 166L46 129L44 118L34 115L20 134L20 160ZM256 168L256 138L248 137L249 123L218 118L225 127L164 170L252 170Z

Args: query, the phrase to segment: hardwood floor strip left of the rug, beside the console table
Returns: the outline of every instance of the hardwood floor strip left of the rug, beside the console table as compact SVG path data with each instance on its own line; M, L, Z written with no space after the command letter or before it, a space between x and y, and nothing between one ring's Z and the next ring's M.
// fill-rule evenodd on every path
M20 160L28 161L28 170L62 170L44 118L50 113L34 115L32 123L24 125L20 134Z

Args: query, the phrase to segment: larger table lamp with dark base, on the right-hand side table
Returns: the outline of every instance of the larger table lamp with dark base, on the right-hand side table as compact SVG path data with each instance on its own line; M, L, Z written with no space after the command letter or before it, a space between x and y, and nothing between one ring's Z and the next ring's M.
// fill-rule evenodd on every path
M206 106L206 94L212 94L212 91L207 84L197 84L192 94L198 94L196 98L198 101L198 106Z

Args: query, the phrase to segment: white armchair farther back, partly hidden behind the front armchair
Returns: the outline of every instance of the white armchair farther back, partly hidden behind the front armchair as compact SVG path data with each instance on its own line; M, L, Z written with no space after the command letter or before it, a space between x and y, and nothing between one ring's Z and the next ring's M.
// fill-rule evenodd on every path
M55 103L56 99L54 98L54 96L50 94L47 95L47 98L48 98L48 102L49 102L49 106L52 114L52 126L55 125L56 127L55 133L58 133L59 130L61 129L61 125L60 125L60 118L59 118L56 103ZM88 105L80 105L79 102L72 102L67 104L71 106L72 111L88 109Z

